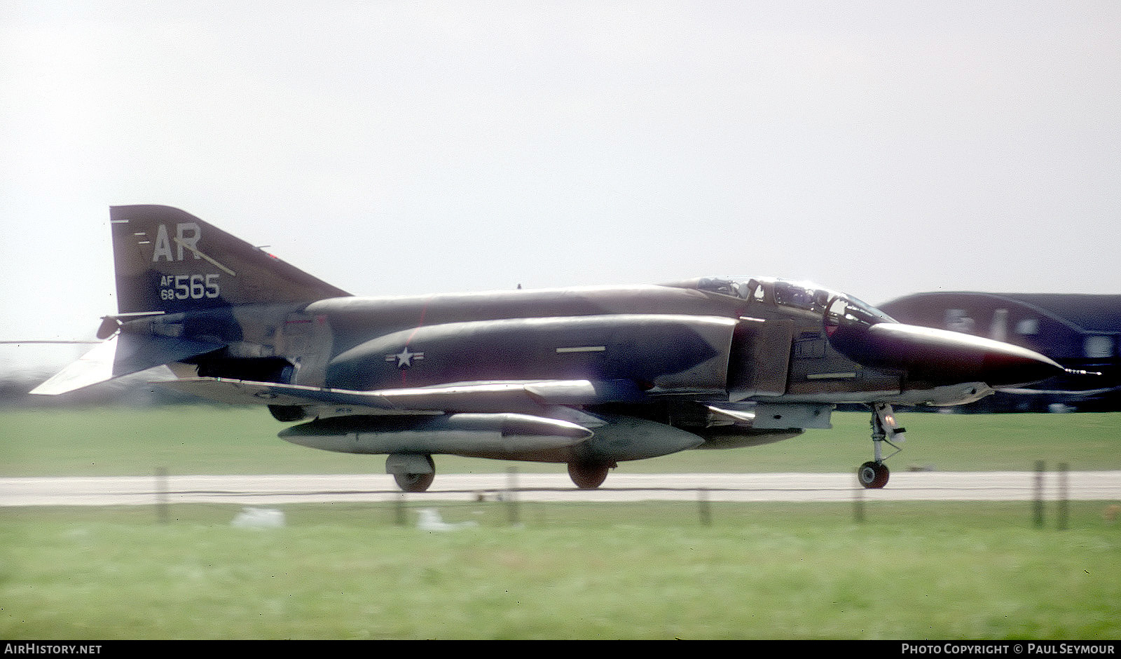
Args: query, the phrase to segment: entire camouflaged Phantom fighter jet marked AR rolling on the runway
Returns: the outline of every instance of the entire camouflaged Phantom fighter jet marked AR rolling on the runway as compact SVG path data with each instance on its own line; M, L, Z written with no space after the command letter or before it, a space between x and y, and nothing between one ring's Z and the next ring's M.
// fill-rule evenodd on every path
M871 408L865 488L888 481L892 405L966 403L1063 373L1023 347L895 322L769 278L354 297L183 211L111 210L119 313L35 389L168 364L164 384L267 406L280 437L387 455L406 491L432 456L567 463L596 488L621 461L778 442Z

